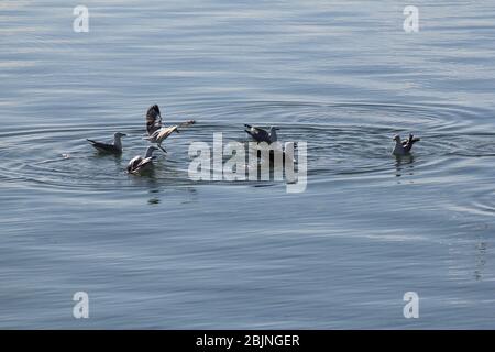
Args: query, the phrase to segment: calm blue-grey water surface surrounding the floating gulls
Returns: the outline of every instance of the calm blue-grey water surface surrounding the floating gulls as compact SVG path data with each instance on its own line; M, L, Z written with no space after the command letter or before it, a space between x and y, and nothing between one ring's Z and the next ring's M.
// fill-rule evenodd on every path
M495 328L493 1L81 4L0 3L0 328ZM131 177L152 103L197 124ZM308 141L305 193L188 178L243 123Z

